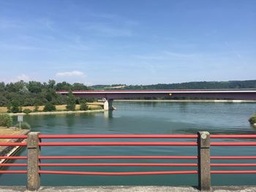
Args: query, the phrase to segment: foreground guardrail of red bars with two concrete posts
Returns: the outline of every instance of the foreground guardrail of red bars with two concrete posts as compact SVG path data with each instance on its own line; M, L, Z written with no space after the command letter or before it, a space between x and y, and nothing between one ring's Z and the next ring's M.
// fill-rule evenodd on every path
M211 156L210 148L221 146L256 146L256 142L211 142L210 139L256 139L256 135L210 135L206 131L193 135L44 135L31 132L28 136L0 136L0 139L27 139L26 142L0 142L0 146L27 147L27 156L0 156L0 159L26 159L26 164L0 164L0 166L24 166L27 170L5 170L0 174L27 174L28 190L40 187L40 174L86 174L86 175L142 175L142 174L197 174L198 188L210 190L211 174L256 174L256 170L211 170L214 166L256 166L256 164L211 164L211 159L256 159L256 156ZM41 139L196 139L195 142L42 142ZM95 156L42 156L41 146L197 146L197 156L167 156L167 155L95 155ZM86 164L45 164L43 159L197 159L197 164L171 163L86 163ZM69 172L42 170L48 166L185 166L197 167L192 171L158 171L158 172Z

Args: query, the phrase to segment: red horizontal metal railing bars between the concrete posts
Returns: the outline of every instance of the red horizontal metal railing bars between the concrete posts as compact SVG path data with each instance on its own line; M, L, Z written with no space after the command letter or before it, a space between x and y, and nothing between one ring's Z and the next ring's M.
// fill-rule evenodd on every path
M29 134L30 135L30 134ZM30 136L29 136L30 137ZM27 142L0 142L0 146L30 146L29 137L22 136L0 136L0 139L28 139ZM219 146L256 146L256 135L249 134L239 134L239 135L211 135L211 139L250 139L248 142L210 142L208 138L209 146L208 151L211 147L219 147ZM203 138L203 137L202 137ZM197 146L197 149L200 150L200 134L195 135L136 135L136 134L118 134L118 135L44 135L37 134L37 147L47 147L47 146ZM104 141L104 142L41 142L41 139L140 139L140 141ZM141 139L147 139L146 141L141 141ZM148 139L196 139L195 141L184 141L184 142L170 142L170 141L148 141ZM206 138L203 138L206 139ZM206 147L207 148L207 147ZM29 150L29 147L28 147ZM216 159L256 159L256 156L209 156L212 160ZM0 159L29 159L29 156L0 156ZM185 166L185 167L197 167L198 170L192 171L155 171L155 172L69 172L69 171L50 171L50 170L41 170L39 169L37 174L86 174L86 175L140 175L140 174L200 174L200 169L202 166L200 161L203 161L200 157L200 153L197 156L191 155L179 155L179 156L170 156L170 155L95 155L95 156L43 156L37 155L38 164L37 167L45 167L45 166ZM44 159L197 159L198 163L70 163L70 164L60 164L60 163L40 163L39 160ZM29 162L29 161L28 161ZM2 163L0 166L30 166L27 164L7 164ZM211 163L208 166L211 167L220 167L220 166L256 166L256 163L236 163L236 164L216 164ZM29 170L29 169L28 169ZM211 170L209 174L255 174L256 170ZM29 174L28 171L0 171L0 174Z

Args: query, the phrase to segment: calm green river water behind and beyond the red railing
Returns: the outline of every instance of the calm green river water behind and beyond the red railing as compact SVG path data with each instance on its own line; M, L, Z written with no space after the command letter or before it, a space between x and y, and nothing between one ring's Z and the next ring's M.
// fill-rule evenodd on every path
M248 118L256 104L116 102L117 110L75 115L26 116L42 134L256 134ZM76 141L84 141L77 139ZM97 140L97 139L91 139ZM91 141L90 140L90 141ZM106 140L106 139L105 139ZM126 139L132 140L132 139ZM138 139L140 140L140 139ZM151 141L157 139L151 139ZM50 140L45 139L49 142ZM53 140L51 140L53 141ZM70 139L54 139L70 141ZM102 140L101 140L102 141ZM115 141L118 141L116 139ZM134 141L134 139L133 139ZM170 140L165 140L170 141ZM180 141L176 139L176 141ZM188 139L188 141L191 141ZM219 141L224 141L219 139ZM236 141L243 141L236 139ZM26 150L19 155L26 155ZM42 155L197 155L196 147L42 147ZM211 155L256 155L255 147L211 147ZM18 160L15 163L23 163ZM143 162L196 163L195 160L43 160L42 163ZM212 163L256 163L255 160L215 160ZM12 167L10 170L23 170ZM140 172L195 170L195 167L42 167L42 170ZM212 170L255 170L219 167ZM212 174L212 185L256 185L256 174ZM26 174L1 174L0 185L26 185ZM85 176L42 174L42 185L197 185L197 175Z

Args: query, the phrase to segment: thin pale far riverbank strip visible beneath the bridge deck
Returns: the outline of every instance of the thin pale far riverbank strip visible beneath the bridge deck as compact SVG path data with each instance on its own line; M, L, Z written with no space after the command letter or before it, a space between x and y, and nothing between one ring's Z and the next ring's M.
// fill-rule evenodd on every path
M256 103L256 100L228 100L228 99L116 99L115 102L211 102L211 103Z

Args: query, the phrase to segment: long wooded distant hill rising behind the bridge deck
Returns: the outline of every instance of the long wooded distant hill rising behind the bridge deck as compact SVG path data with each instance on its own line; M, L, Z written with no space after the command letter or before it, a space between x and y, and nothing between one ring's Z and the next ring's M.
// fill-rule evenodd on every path
M202 81L156 85L93 85L95 90L161 90L161 89L256 89L256 80Z

